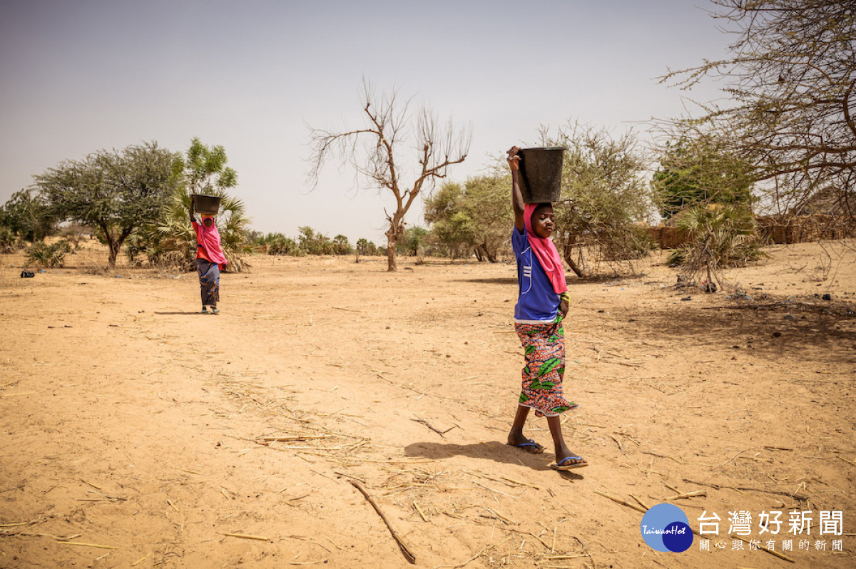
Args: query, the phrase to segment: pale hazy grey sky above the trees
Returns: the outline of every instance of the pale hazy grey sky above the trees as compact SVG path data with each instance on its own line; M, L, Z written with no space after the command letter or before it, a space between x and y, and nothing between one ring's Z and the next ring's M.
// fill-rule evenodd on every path
M398 87L472 127L463 181L538 125L629 127L681 114L667 68L725 53L706 0L434 2L4 0L0 204L63 159L157 140L223 145L252 227L383 243L377 190L306 183L307 125L360 126L360 86ZM717 95L716 86L693 98ZM421 207L407 216L423 224Z

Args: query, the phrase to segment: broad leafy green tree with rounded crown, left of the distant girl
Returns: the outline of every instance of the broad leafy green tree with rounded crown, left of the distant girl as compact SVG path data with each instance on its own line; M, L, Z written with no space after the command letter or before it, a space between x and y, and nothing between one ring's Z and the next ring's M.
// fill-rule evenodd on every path
M68 160L35 176L35 187L58 216L99 230L113 267L134 228L158 217L180 171L174 153L146 142Z

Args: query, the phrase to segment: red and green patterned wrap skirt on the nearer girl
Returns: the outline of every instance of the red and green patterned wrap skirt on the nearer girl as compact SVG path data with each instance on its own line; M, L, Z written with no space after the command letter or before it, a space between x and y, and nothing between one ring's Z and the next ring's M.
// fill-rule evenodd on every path
M531 407L537 417L555 417L577 405L562 395L565 375L565 329L562 315L544 324L514 323L526 353L520 405Z

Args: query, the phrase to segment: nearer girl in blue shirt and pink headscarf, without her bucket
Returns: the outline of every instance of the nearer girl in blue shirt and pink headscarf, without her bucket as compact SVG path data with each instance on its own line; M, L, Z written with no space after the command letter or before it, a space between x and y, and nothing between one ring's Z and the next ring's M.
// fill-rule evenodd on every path
M573 453L562 437L561 413L577 407L562 395L565 374L565 330L562 319L568 314L568 285L559 255L550 235L554 229L553 205L526 204L520 192L520 147L508 151L511 166L511 203L514 229L511 245L517 258L519 293L514 306L514 329L526 351L523 388L508 444L529 453L543 453L544 447L523 435L530 409L546 417L553 437L556 463L550 468L568 471L587 466L586 459Z

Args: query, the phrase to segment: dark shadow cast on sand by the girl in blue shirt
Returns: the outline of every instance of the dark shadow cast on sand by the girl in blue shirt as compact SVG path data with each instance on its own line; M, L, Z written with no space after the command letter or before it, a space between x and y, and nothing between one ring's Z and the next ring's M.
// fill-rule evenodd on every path
M407 456L422 457L425 459L449 459L453 456L467 456L471 459L493 460L504 462L508 465L523 464L532 468L533 471L549 471L550 466L544 458L555 459L552 453L532 454L520 448L511 447L502 442L473 442L472 444L459 445L454 442L413 442L404 448ZM573 471L559 472L568 480L582 480L579 474Z

